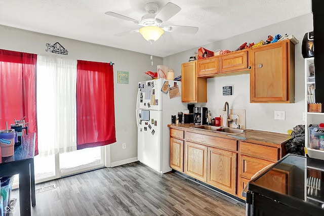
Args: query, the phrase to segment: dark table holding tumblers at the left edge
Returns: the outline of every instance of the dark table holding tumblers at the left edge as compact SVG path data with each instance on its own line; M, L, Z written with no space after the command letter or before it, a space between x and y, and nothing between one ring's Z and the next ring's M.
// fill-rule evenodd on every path
M34 152L35 133L30 133L15 147L13 156L0 158L0 177L19 174L20 215L30 215L30 198L32 206L36 205Z

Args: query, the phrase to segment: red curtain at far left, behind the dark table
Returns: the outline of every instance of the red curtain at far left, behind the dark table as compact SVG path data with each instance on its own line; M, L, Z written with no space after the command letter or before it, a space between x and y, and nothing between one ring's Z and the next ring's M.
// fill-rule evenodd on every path
M0 129L25 116L28 132L36 133L36 54L0 50Z

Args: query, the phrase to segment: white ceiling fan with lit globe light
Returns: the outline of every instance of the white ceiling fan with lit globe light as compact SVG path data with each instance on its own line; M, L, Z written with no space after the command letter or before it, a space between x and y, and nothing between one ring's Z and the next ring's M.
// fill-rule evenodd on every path
M144 5L147 14L144 14L141 20L136 20L121 14L117 14L111 11L106 12L106 15L113 16L119 19L131 21L137 25L143 26L140 29L134 29L127 32L115 34L116 36L122 36L131 32L139 32L149 42L157 40L165 31L195 34L198 31L198 27L193 26L181 26L170 25L163 26L163 23L176 15L181 8L171 2L167 3L161 10L156 3L150 2ZM158 11L158 12L157 12ZM157 12L157 13L156 13Z

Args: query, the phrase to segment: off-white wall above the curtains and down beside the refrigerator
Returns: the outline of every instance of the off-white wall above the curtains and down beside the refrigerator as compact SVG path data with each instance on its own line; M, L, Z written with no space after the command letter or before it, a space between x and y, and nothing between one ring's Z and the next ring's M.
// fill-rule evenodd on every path
M46 43L59 42L68 55L46 52ZM116 140L111 144L110 162L122 161L137 157L137 127L135 118L135 102L138 82L150 77L144 71L156 71L156 65L162 64L162 58L153 57L154 65L150 65L150 57L145 54L105 47L88 42L35 33L0 25L0 49L12 50L38 55L57 56L60 58L78 59L97 62L114 62L114 93ZM117 71L129 72L129 84L117 83ZM126 149L121 147L126 143Z

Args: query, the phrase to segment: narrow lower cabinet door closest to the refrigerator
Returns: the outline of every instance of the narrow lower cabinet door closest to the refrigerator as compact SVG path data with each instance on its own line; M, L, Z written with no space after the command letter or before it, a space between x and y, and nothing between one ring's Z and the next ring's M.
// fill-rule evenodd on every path
M170 167L183 172L184 141L170 138Z

